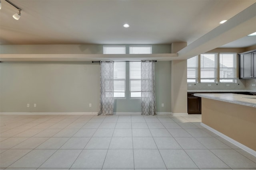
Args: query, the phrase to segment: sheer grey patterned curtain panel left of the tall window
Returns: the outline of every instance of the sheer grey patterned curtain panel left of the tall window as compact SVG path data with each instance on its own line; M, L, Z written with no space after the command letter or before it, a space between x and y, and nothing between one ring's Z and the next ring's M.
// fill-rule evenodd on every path
M100 111L98 115L113 115L114 62L100 62Z

